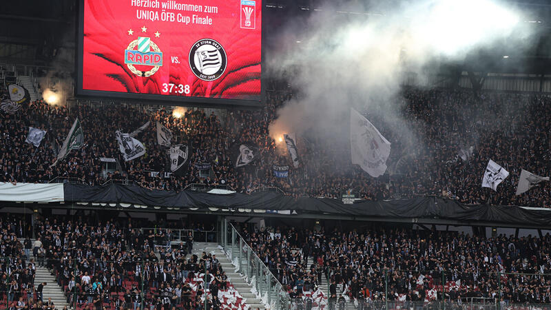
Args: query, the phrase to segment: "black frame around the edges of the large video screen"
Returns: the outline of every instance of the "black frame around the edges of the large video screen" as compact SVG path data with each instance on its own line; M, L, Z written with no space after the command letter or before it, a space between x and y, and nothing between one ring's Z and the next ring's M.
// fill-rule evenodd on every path
M75 72L76 85L74 87L74 96L81 99L120 99L125 102L141 103L144 105L185 105L194 107L217 107L217 108L245 108L245 109L262 109L265 105L264 98L266 95L264 85L264 14L266 12L264 0L262 1L262 18L260 20L260 99L221 99L221 98L205 98L205 97L186 97L186 96L167 96L161 94L136 94L125 92L109 92L105 90L85 90L83 89L83 58L84 58L84 2L87 0L77 1L77 29L76 29L76 53L75 53Z

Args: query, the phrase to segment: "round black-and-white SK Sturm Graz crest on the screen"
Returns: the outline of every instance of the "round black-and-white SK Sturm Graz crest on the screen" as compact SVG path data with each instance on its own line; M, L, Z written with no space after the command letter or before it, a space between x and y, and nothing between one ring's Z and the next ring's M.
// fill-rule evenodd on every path
M199 79L214 81L226 71L226 51L213 39L201 39L189 51L189 67Z

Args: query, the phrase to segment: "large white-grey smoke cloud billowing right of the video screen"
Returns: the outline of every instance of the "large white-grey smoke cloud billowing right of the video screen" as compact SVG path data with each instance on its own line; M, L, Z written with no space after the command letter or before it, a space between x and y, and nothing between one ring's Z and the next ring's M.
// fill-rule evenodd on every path
M384 14L339 10L362 12L346 4L321 6L306 26L291 23L281 37L293 40L293 47L270 57L269 74L290 76L299 93L269 126L275 141L295 132L322 136L327 148L343 143L339 147L346 149L354 107L367 112L389 140L400 136L417 145L418 137L398 112L404 103L399 96L402 73L422 76L430 61L464 59L475 48L507 37L519 21L517 12L490 0L417 1L370 9Z

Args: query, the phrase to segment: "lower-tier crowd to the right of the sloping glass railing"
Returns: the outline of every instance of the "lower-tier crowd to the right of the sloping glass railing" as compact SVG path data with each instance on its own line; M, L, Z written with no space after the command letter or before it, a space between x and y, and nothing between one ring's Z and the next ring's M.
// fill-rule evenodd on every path
M500 291L503 305L551 302L549 234L485 238L435 230L255 227L242 229L242 236L298 300L326 281L324 293L333 305L355 300L457 306L470 298L494 304Z

